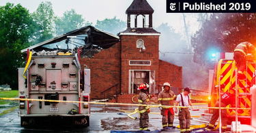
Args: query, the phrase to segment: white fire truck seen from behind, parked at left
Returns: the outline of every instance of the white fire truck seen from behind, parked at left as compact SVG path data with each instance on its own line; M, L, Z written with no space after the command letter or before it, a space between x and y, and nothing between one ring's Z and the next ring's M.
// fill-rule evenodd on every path
M34 52L18 69L21 127L89 126L90 69L81 70L79 50Z

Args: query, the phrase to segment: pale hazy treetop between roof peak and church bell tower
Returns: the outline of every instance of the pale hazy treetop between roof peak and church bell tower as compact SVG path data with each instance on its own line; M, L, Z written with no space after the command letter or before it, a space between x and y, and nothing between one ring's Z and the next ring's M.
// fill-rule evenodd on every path
M117 17L115 16L112 19L106 18L102 21L97 20L95 27L112 33L113 35L117 35L117 33L124 31L124 29L126 29L126 22L117 19Z

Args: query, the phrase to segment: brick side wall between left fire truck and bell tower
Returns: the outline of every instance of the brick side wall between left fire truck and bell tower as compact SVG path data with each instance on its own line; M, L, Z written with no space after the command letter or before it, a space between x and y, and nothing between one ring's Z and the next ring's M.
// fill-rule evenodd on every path
M100 98L100 92L121 81L120 43L94 54L93 58L81 58L81 66L91 69L91 98ZM120 86L120 85L119 85Z

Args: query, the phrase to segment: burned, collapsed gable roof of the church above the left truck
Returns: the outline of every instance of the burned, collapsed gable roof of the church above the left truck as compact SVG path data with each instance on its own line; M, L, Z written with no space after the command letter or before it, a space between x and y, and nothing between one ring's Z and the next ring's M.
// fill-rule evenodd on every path
M75 37L71 38L70 37ZM91 48L97 47L102 49L111 48L111 46L115 45L119 41L119 37L117 35L113 35L101 29L97 29L94 26L84 26L81 29L76 29L74 31L70 31L66 34L60 35L59 37L54 37L53 39L48 39L42 43L38 43L32 45L29 48L25 48L21 50L21 52L29 50L40 51L45 49L59 49L58 45L66 44L66 49L68 45L76 45L76 47L83 48ZM47 47L46 47L47 45ZM63 47L63 46L62 46Z

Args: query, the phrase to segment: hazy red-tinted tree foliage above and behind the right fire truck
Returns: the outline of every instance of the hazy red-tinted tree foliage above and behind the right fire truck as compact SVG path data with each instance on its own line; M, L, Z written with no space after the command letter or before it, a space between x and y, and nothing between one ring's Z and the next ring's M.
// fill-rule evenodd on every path
M255 44L255 29L255 13L212 14L191 39L194 61L210 62L212 52L233 52L243 41Z

